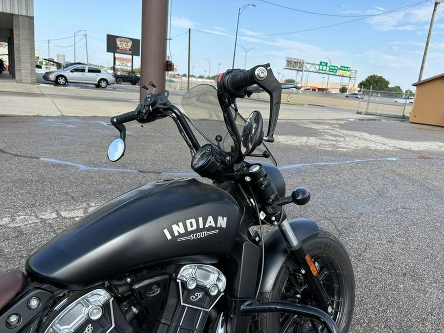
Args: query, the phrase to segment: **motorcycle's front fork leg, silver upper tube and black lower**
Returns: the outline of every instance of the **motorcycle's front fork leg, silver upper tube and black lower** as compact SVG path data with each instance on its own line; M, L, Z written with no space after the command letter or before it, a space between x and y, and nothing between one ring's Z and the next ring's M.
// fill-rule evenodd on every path
M325 292L325 289L322 286L317 274L314 275L312 273L311 268L305 259L307 253L305 252L302 242L296 238L296 235L287 220L284 220L279 224L279 229L287 242L287 250L290 254L290 258L293 260L296 266L300 268L300 273L310 288L316 303L319 305L321 310L327 312L328 314L332 314L333 307L330 297Z

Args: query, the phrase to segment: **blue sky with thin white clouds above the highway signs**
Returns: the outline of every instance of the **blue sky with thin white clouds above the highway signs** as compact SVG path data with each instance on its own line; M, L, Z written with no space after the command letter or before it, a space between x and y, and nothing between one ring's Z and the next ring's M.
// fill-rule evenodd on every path
M230 68L238 9L249 3L256 7L249 6L240 15L237 41L249 50L247 68L269 62L275 74L294 78L295 72L283 70L286 57L313 63L327 62L328 57L333 65L357 70L357 82L379 74L391 86L407 89L417 81L433 0L170 0L172 40L167 54L171 54L178 71L187 71L188 28L192 29L191 66L195 75L204 71L208 75L209 61L212 75L218 67L221 72ZM356 16L410 5L406 10L385 15ZM343 16L316 15L281 6ZM112 64L112 54L106 52L106 35L140 38L141 7L141 0L35 0L36 48L46 57L48 43L44 40L69 37L51 40L50 52L51 57L61 53L72 60L74 31L83 29L87 31L90 62L108 66ZM424 78L444 72L443 16L444 3L437 11ZM300 32L351 20L355 21ZM78 41L76 55L80 61L86 60L84 40ZM245 51L238 46L235 67L243 68L244 62ZM139 64L140 59L135 57L135 66ZM322 76L310 75L310 79L318 75L319 80Z

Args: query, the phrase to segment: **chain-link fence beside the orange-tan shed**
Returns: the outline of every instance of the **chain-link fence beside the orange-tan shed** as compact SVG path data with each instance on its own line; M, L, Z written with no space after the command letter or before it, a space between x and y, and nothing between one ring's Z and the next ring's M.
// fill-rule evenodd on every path
M362 89L362 97L359 99L356 113L386 115L393 117L410 117L411 107L414 102L414 94L409 90L407 93Z

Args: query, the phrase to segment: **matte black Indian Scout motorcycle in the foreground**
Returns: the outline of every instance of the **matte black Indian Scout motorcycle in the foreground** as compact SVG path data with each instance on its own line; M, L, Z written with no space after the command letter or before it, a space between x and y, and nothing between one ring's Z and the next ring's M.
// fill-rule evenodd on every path
M304 205L310 193L299 187L285 196L265 146L282 91L270 65L192 88L185 112L151 86L135 111L111 118L120 137L109 159L125 152L125 122L168 116L192 170L212 182L147 184L78 220L27 260L26 274L0 276L0 332L347 332L350 259L312 220L287 218L283 206ZM258 91L270 96L266 135L260 112L244 120L236 105ZM276 228L264 237L263 224Z

